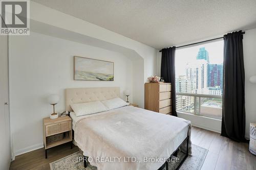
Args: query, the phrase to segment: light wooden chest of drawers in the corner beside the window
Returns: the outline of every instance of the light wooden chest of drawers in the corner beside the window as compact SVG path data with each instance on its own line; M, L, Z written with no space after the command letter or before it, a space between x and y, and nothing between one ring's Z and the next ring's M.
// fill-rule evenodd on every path
M145 83L145 109L172 115L170 83Z

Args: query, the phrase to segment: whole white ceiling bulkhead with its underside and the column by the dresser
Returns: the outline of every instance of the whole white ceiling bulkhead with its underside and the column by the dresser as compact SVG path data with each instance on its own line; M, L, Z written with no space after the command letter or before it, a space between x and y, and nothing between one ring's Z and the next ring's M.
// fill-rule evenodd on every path
M134 63L138 68L134 67L134 71L138 71L135 76L139 79L134 82L133 94L135 102L144 108L144 82L147 81L147 77L155 75L157 72L157 50L155 48L33 1L30 2L30 24L31 30L34 32L76 42L83 41L83 43L104 49L122 51L122 54L127 57L137 57L137 61ZM55 28L59 30L53 31ZM60 30L62 31L60 32ZM75 34L79 36L76 37ZM142 69L143 72L141 72Z

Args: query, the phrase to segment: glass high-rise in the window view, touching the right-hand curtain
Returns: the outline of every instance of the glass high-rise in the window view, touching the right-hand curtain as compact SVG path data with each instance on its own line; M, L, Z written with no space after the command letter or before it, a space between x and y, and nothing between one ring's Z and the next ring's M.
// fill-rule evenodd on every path
M223 64L209 64L208 87L220 86L223 89Z

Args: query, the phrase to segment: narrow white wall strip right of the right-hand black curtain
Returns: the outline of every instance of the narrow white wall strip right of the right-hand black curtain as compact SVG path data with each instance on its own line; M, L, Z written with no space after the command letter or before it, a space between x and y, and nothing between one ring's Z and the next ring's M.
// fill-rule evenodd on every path
M243 39L245 66L245 136L249 138L250 122L256 122L256 84L249 78L256 75L256 29L246 30Z

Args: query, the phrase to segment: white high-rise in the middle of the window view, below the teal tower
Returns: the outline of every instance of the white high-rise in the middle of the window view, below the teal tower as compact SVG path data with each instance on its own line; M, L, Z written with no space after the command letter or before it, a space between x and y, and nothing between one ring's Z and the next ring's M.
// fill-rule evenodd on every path
M204 93L207 90L208 83L208 62L204 59L198 59L196 62L190 62L186 65L186 78L191 81L192 93Z

